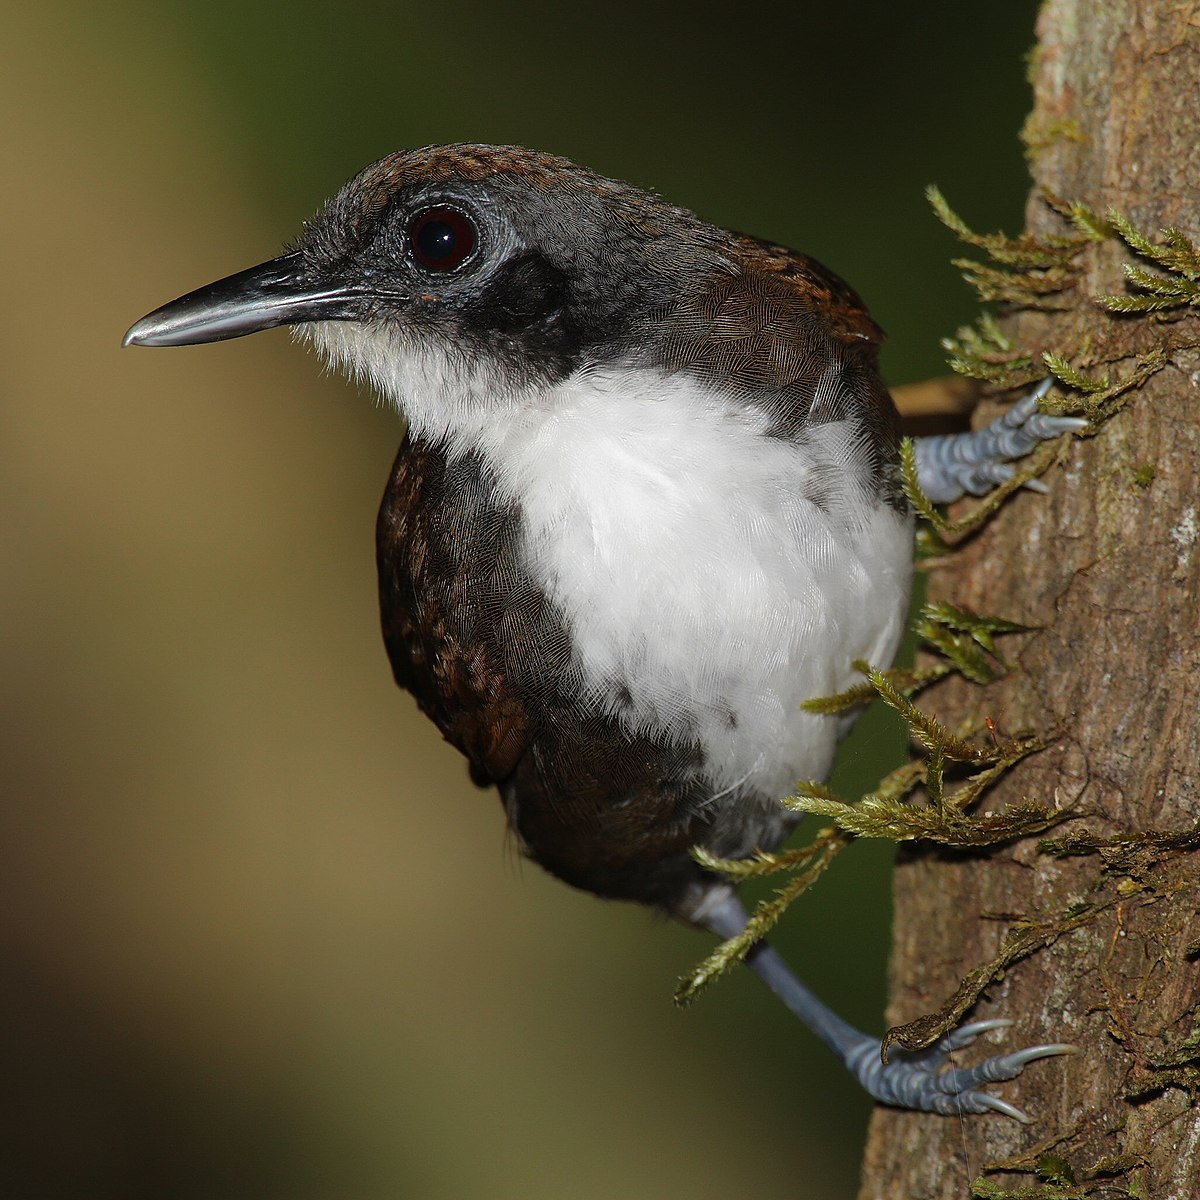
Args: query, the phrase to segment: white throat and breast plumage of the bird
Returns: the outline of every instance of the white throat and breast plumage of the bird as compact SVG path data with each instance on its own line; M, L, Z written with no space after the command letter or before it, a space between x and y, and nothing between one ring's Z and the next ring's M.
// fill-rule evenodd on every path
M497 396L432 355L380 354L361 326L317 330L414 433L490 461L598 704L698 740L718 792L826 775L838 722L799 706L856 682L856 658L890 662L912 571L911 528L872 500L854 428L772 438L763 413L653 371ZM805 499L818 466L821 506Z

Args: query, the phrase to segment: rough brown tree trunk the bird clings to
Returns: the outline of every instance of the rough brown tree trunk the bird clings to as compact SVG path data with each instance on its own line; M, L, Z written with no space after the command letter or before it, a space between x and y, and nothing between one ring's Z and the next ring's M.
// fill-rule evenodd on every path
M1038 37L1028 232L1074 232L1044 187L1111 206L1151 236L1175 226L1200 239L1200 6L1048 0ZM920 702L952 727L990 716L1004 733L1061 731L982 805L1030 797L1081 814L1051 836L1187 833L1200 816L1200 322L1195 307L1157 318L1100 307L1098 295L1134 294L1127 262L1156 270L1120 239L1090 245L1067 307L1019 312L1007 329L1114 380L1156 347L1165 367L1070 446L1066 469L1045 476L1051 494L1016 496L931 572L931 599L1038 626L1006 643L1006 678L985 689L950 679ZM972 1013L1014 1018L1014 1049L1063 1040L1081 1052L994 1088L1034 1116L1028 1128L878 1109L862 1200L967 1196L980 1175L980 1195L1200 1195L1194 841L1054 857L1027 839L985 857L901 856L889 1018L937 1008L1019 920L1086 904L1080 928L1012 966ZM1075 1189L1058 1190L1070 1180Z

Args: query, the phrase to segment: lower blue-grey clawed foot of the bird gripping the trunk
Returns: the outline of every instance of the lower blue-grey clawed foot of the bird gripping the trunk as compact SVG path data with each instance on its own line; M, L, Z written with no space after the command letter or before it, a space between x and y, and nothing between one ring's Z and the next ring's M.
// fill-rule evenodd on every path
M1026 1066L1052 1055L1074 1054L1075 1046L1061 1042L1026 1046L1013 1054L994 1055L973 1067L942 1069L956 1051L971 1045L980 1033L1007 1028L1009 1020L976 1021L947 1033L925 1050L894 1049L888 1062L880 1057L880 1043L863 1036L862 1044L846 1055L846 1066L877 1100L922 1112L1002 1112L1024 1124L1028 1114L1007 1100L982 1091L986 1084L1015 1079Z

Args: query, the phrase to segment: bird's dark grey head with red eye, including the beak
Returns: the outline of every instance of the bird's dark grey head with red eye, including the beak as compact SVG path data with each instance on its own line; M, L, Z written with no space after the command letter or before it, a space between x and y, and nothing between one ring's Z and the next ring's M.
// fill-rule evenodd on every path
M431 146L367 167L287 253L164 305L125 343L295 325L398 403L454 372L523 390L636 355L680 293L732 270L728 238L565 158Z

